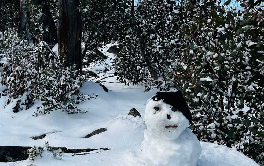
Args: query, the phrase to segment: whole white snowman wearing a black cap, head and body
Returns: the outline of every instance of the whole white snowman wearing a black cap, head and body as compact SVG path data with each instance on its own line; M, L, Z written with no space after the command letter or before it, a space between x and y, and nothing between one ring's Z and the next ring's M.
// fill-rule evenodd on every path
M148 100L142 157L146 166L196 166L201 145L188 128L191 112L182 92L158 92Z

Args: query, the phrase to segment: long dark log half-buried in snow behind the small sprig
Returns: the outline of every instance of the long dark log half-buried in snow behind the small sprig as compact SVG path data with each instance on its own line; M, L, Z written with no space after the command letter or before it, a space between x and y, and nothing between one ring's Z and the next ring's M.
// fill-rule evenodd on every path
M14 162L26 160L28 155L28 150L31 149L30 146L0 146L0 162ZM94 150L110 150L108 148L98 148L98 149L68 149L65 147L54 147L53 150L61 148L64 153L81 153L81 152L91 152Z

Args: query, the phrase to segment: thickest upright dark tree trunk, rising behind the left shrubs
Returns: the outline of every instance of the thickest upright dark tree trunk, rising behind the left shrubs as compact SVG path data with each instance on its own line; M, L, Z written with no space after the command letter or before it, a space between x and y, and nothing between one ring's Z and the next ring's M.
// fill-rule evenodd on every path
M76 70L82 72L81 56L81 13L76 10L79 0L58 0L58 43L59 55L65 58L68 66L76 64Z

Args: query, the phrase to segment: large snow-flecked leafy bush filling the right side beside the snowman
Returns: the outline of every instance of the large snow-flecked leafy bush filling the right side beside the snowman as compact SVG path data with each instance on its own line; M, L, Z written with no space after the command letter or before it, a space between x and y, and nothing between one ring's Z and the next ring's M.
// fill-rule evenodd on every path
M264 159L262 20L249 8L229 11L216 4L194 6L196 13L186 31L192 44L175 57L174 84L189 101L191 127L200 141L236 147L260 162Z

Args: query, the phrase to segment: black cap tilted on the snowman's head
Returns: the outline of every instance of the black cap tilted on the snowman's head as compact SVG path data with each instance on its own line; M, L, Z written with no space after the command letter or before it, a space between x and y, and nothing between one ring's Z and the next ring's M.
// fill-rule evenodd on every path
M189 120L189 122L192 121L191 111L181 91L157 92L151 99L154 101L163 100L164 103L172 106L172 111L180 111Z

